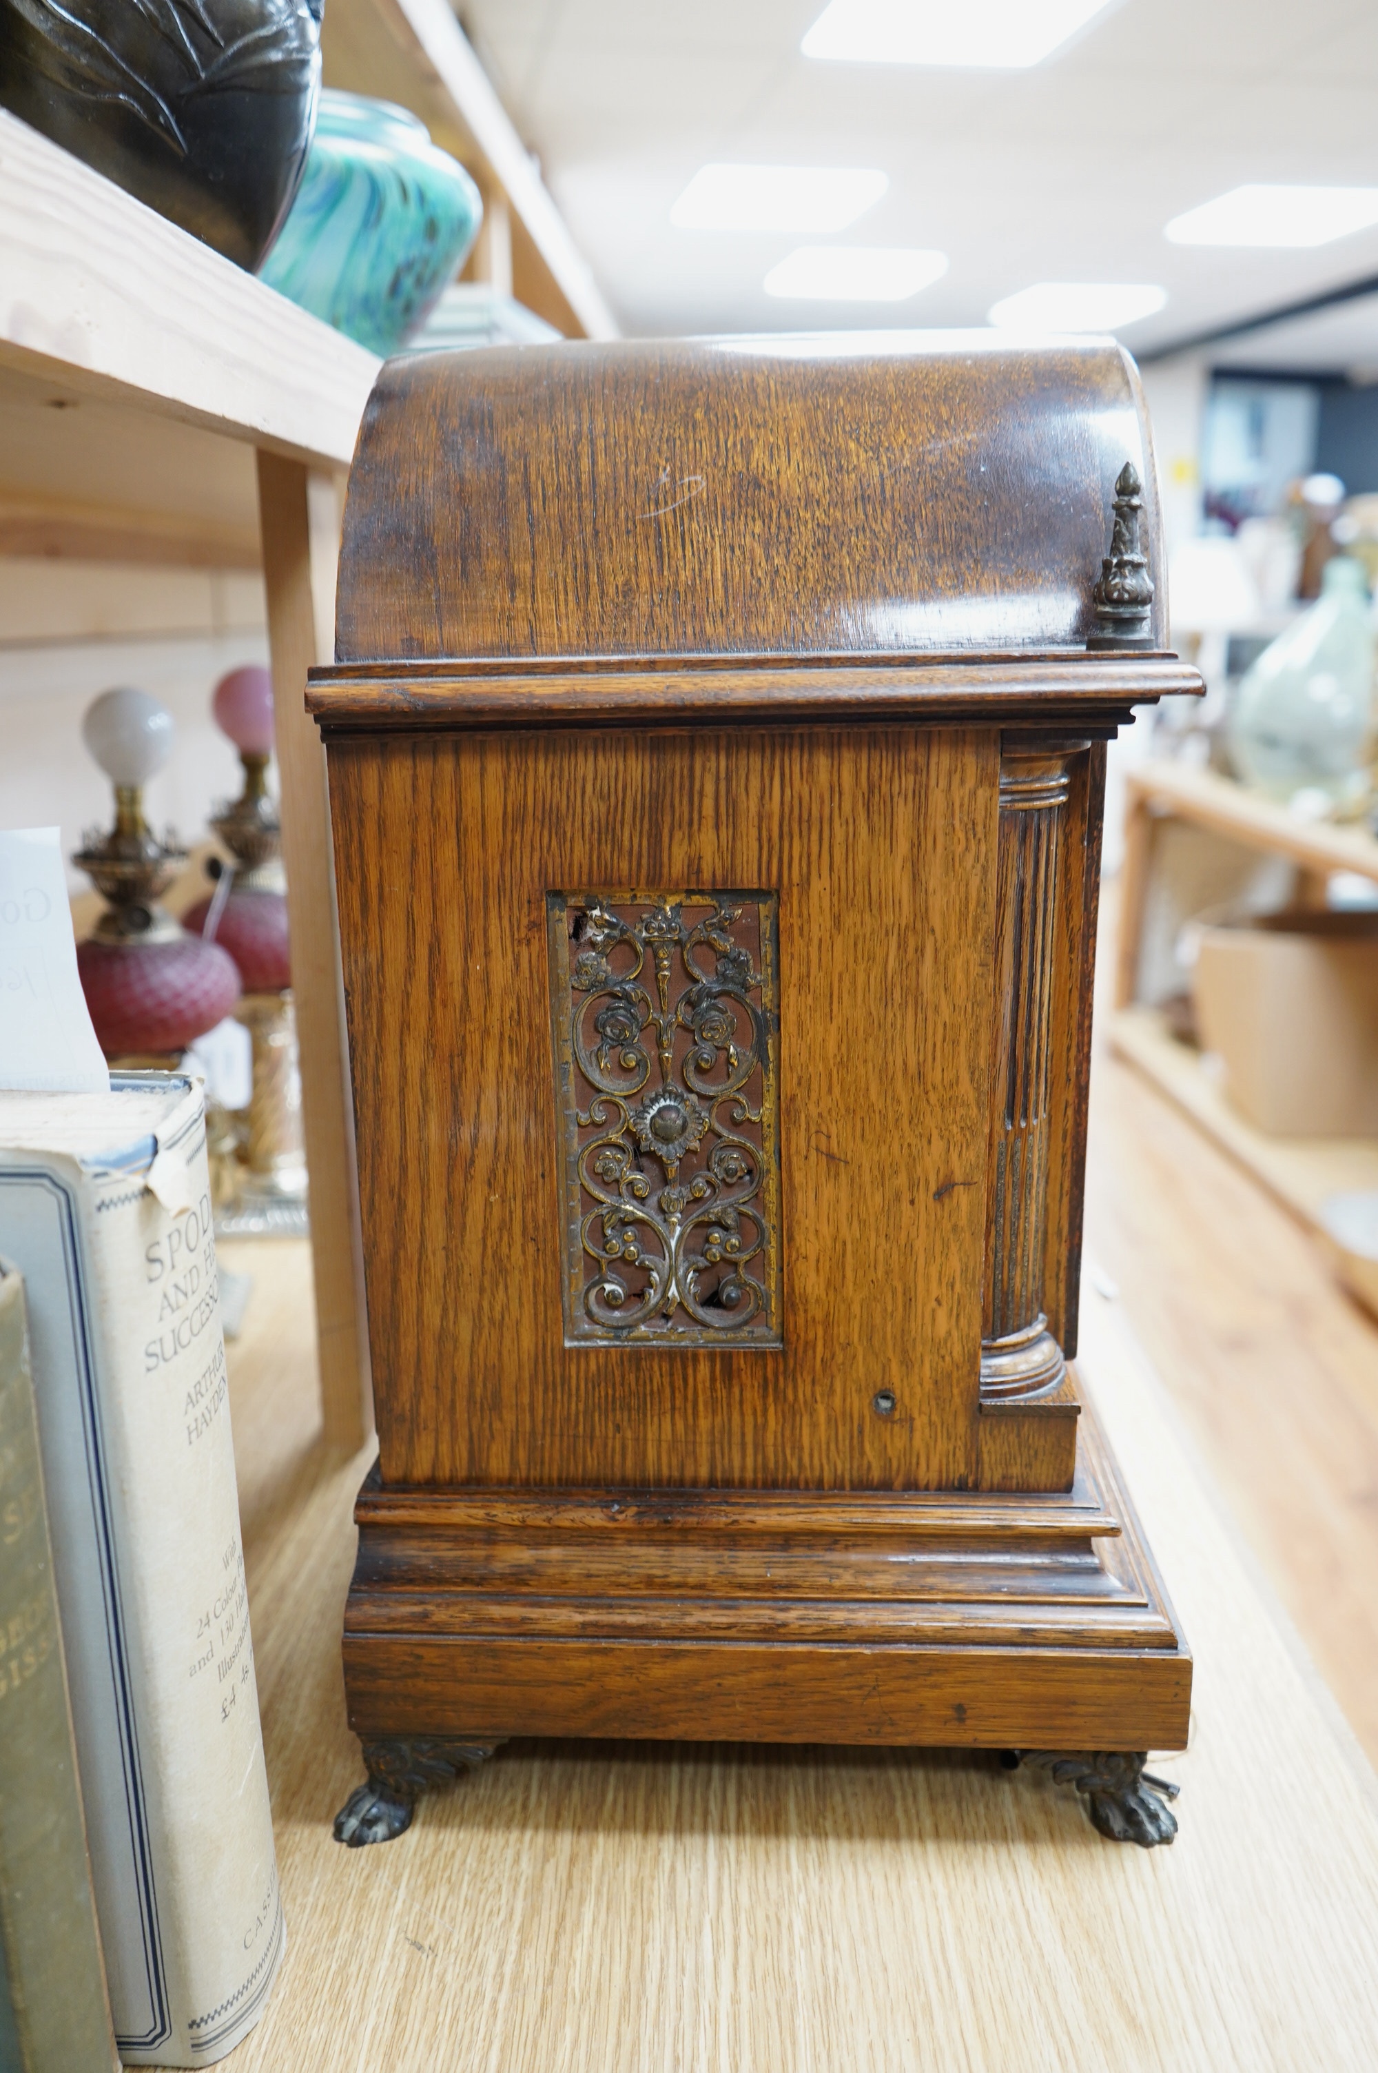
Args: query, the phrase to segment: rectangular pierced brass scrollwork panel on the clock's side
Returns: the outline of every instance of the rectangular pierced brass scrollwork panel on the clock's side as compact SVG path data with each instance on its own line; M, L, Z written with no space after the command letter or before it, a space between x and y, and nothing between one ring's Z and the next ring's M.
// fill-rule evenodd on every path
M547 893L566 1343L781 1343L775 893Z

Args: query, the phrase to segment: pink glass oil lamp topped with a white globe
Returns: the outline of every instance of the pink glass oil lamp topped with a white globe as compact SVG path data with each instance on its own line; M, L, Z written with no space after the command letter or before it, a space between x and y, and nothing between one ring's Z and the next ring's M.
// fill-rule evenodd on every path
M143 786L172 748L172 715L143 690L106 690L81 738L114 784L114 827L87 829L73 858L108 900L77 947L91 1022L108 1059L176 1066L186 1047L238 999L234 960L189 935L157 904L186 854L143 817Z

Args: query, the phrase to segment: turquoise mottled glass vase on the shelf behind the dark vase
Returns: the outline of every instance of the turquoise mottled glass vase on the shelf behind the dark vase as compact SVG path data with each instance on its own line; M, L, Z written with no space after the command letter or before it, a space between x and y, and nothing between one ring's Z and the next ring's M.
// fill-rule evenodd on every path
M481 220L479 189L417 116L327 89L259 278L371 352L396 352L454 280Z

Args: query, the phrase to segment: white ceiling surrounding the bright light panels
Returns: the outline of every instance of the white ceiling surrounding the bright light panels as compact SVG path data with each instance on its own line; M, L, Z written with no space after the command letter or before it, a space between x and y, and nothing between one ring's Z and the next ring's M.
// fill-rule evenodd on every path
M1024 73L812 62L821 4L466 0L628 330L980 323L1038 280L1131 280L1169 292L1125 332L1150 350L1378 274L1378 232L1305 253L1162 236L1241 180L1378 184L1376 0L1121 0ZM881 166L843 243L939 247L949 274L889 309L781 305L760 282L787 238L669 226L711 158Z

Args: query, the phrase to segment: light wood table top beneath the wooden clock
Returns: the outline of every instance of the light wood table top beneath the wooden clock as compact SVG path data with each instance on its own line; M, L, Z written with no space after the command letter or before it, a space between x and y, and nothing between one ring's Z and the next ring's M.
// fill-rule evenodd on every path
M346 1851L350 1503L305 1246L238 1244L232 1347L288 1959L236 2073L1372 2069L1378 1789L1117 1304L1084 1381L1196 1650L1171 1849L961 1752L510 1745Z

